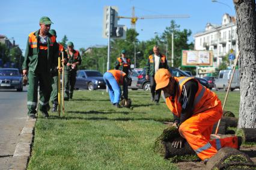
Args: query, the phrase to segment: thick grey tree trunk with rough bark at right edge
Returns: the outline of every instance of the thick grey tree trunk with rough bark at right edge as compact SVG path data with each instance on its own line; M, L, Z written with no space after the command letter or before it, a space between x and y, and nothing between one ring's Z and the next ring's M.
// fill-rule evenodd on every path
M239 128L256 128L255 0L234 0L240 51Z

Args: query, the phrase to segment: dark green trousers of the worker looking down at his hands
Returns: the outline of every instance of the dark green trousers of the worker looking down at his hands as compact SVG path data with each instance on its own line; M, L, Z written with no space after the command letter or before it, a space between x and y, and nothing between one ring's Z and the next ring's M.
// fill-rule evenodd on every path
M76 72L75 71L66 71L64 73L64 82L65 82L65 99L72 99L73 91L76 83Z

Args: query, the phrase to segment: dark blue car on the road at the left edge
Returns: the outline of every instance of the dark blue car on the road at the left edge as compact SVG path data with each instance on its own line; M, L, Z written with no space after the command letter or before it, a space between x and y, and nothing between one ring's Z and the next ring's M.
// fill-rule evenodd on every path
M22 75L17 68L0 68L0 89L23 91Z

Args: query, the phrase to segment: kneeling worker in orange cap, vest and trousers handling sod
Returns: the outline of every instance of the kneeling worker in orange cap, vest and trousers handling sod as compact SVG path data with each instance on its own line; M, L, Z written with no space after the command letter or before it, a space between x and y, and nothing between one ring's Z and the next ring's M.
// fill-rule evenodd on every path
M156 90L162 89L166 105L174 114L174 125L200 159L207 160L222 147L238 148L237 136L210 140L213 125L222 117L221 100L193 77L172 77L165 68L155 76ZM181 148L183 138L172 146Z

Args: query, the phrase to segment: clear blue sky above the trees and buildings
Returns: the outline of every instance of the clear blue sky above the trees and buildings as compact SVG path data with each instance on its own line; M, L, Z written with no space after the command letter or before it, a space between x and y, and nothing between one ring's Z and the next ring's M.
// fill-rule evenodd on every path
M96 44L106 45L102 38L103 8L107 5L117 6L119 16L188 14L188 19L174 19L181 29L191 29L192 34L203 31L206 23L221 24L224 13L235 15L233 0L0 0L0 34L14 37L21 49L26 48L28 34L39 29L41 16L49 16L54 23L51 28L57 32L57 41L66 34L73 41L75 49L87 48ZM139 40L154 37L154 32L162 33L172 19L144 19L136 23ZM118 20L119 25L130 28L129 19ZM190 37L189 41L193 41ZM24 51L23 50L23 51Z

